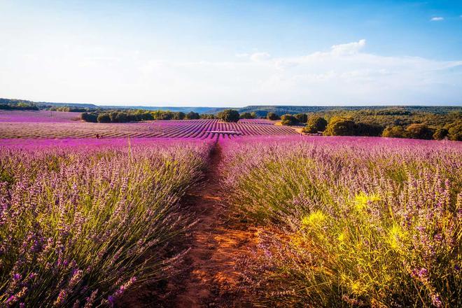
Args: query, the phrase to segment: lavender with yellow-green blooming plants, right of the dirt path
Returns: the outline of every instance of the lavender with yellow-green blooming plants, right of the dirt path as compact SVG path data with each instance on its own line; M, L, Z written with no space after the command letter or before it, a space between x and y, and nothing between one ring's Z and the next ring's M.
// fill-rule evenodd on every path
M462 307L462 144L223 143L224 189L259 226L241 288L285 307Z

